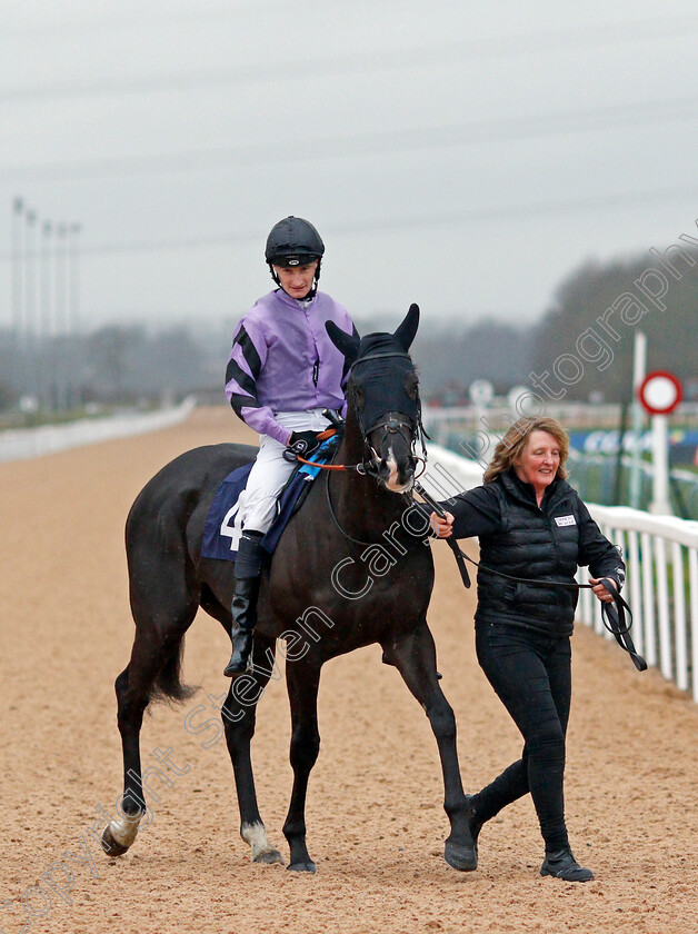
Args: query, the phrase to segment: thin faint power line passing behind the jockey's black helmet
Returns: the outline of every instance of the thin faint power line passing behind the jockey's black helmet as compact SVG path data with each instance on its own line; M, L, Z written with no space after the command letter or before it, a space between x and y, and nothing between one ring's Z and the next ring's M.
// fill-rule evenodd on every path
M328 234L336 236L352 236L355 234L376 234L381 230L405 230L423 226L468 225L475 221L516 220L536 215L569 213L579 210L606 209L624 205L649 203L666 201L674 198L686 198L698 195L696 186L675 186L668 188L647 189L645 191L625 191L616 195L599 195L587 198L569 198L550 201L538 201L530 205L505 206L500 208L471 208L460 211L435 211L431 213L390 217L356 223L343 223L326 228ZM167 250L206 249L227 246L230 244L259 244L263 231L243 234L221 234L219 236L183 237L170 240L150 240L130 244L102 244L81 248L81 257L114 256L118 254L147 254ZM7 261L11 254L0 254L0 261Z

